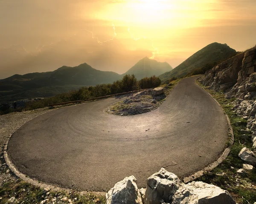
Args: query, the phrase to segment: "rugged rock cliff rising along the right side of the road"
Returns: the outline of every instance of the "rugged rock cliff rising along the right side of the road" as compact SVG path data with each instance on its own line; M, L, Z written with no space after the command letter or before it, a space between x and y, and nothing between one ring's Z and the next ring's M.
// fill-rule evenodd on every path
M199 81L236 99L234 109L248 120L256 147L256 46L213 67Z

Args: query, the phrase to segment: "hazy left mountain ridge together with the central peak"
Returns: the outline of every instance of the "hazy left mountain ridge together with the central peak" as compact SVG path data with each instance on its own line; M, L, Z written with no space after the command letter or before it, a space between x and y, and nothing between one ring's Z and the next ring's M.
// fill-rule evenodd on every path
M144 77L163 74L169 70L172 70L172 66L168 63L157 62L145 57L125 74L134 74L140 80ZM87 63L83 63L75 67L62 66L53 72L13 75L0 80L0 103L24 98L50 97L78 89L81 86L113 83L125 74L99 71Z

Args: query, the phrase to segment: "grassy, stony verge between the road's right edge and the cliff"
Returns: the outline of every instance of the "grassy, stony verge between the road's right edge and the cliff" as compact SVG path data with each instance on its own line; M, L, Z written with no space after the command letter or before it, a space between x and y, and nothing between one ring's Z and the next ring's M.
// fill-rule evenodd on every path
M227 158L211 172L206 172L203 176L198 178L197 181L214 184L227 190L233 198L236 199L236 203L253 204L256 201L256 169L253 168L253 170L247 171L247 173L244 174L237 172L237 170L243 168L243 164L245 164L238 156L240 150L243 147L254 150L252 149L251 133L247 132L245 134L244 131L242 131L246 129L247 120L241 118L234 111L232 102L235 98L226 99L223 93L215 92L209 89L209 87L205 87L199 82L197 83L220 103L224 112L230 118L234 132L234 144ZM220 172L224 174L222 175Z

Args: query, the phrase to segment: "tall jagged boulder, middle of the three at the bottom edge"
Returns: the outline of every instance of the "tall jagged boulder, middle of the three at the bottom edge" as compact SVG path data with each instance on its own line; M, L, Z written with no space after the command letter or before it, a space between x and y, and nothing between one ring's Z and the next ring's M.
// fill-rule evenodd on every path
M183 185L175 174L162 168L147 179L144 204L171 203L172 196Z

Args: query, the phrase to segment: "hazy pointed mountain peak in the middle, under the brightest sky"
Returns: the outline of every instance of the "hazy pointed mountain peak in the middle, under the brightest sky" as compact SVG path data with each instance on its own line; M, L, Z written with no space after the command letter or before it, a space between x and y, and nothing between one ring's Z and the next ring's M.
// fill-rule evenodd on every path
M138 61L131 69L125 72L123 75L134 74L138 80L144 77L151 77L152 75L159 76L164 72L172 70L172 66L167 62L157 62L157 60L151 60L145 57Z

